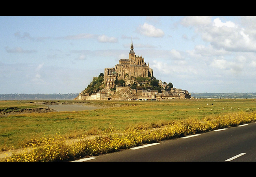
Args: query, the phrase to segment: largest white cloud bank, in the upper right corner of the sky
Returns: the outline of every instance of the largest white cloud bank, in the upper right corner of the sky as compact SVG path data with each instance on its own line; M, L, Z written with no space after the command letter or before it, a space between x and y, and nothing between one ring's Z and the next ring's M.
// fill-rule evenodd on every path
M253 24L256 24L256 19L254 20ZM208 16L192 16L184 17L180 24L193 27L204 41L210 42L218 50L256 52L256 31L245 30L232 21L222 22L218 17L211 22L211 17Z

